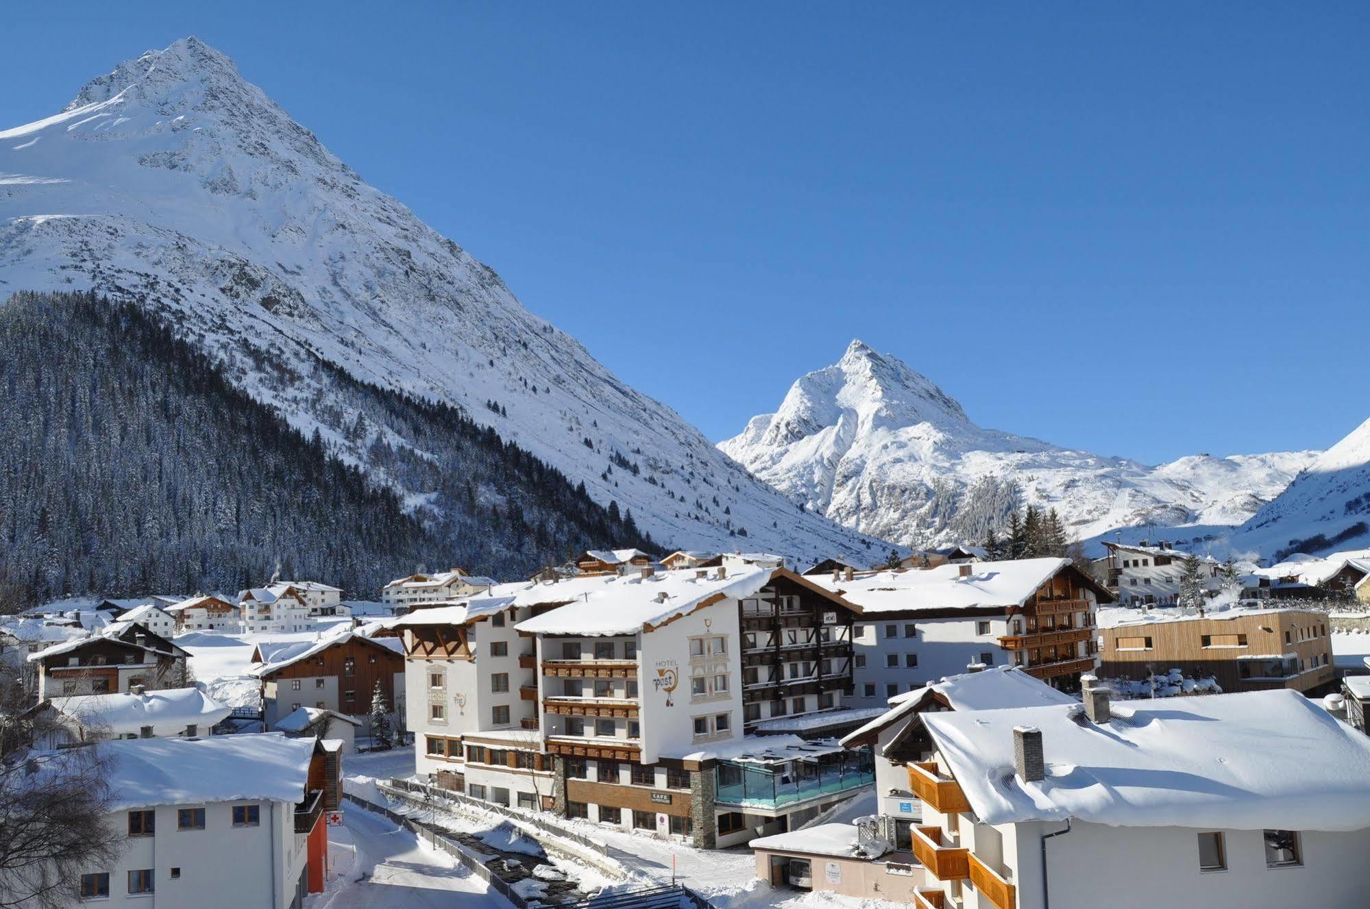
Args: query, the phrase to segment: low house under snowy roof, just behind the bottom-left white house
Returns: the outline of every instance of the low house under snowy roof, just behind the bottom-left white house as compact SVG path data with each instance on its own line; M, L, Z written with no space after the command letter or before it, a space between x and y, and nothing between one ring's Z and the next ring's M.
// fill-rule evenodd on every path
M211 735L232 713L195 687L147 690L133 686L116 694L49 697L33 708L44 738L40 749L86 745L110 738L169 738Z

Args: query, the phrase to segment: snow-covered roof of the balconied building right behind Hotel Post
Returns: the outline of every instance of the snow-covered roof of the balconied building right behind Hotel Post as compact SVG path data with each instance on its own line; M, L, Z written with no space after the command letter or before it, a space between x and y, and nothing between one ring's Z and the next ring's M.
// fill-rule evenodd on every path
M830 575L808 578L821 587L841 593L867 613L904 609L1008 609L1023 605L1038 587L1067 567L1069 559L1015 559L878 571L852 580ZM970 572L962 575L963 568Z

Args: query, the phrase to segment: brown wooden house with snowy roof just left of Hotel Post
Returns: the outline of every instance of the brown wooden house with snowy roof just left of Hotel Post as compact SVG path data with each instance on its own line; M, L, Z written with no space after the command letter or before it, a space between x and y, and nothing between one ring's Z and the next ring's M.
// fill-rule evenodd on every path
M366 716L377 683L390 712L403 716L403 702L396 704L404 694L399 643L397 638L371 639L351 628L319 641L259 643L249 674L262 680L267 728L301 706Z

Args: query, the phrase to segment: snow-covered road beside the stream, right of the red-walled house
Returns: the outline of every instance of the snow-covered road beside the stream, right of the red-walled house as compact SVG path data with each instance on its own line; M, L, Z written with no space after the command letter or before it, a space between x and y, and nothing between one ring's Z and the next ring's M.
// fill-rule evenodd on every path
M389 819L348 804L329 828L327 890L307 909L508 909L486 884Z

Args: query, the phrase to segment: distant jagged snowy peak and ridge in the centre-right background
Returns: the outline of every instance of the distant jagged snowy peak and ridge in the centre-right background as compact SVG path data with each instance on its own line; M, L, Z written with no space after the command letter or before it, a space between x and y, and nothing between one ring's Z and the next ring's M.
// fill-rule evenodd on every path
M1056 508L1077 538L1136 524L1234 526L1318 456L1197 454L1149 467L981 428L927 378L860 341L719 449L814 511L910 546L982 539L1025 504Z

